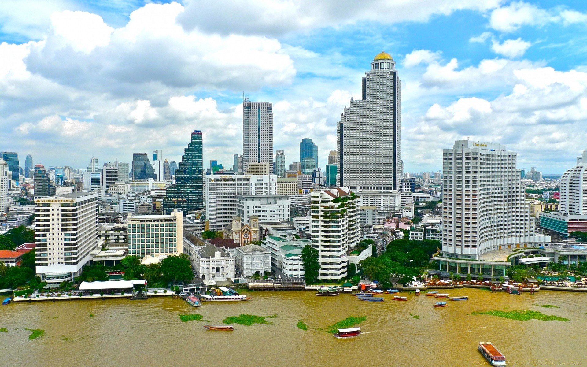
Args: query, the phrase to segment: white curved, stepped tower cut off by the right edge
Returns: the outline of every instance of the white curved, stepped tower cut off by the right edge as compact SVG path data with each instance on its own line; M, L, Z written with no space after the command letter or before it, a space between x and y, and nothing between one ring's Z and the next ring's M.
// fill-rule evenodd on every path
M577 165L561 176L559 211L564 215L587 214L587 150L577 158Z

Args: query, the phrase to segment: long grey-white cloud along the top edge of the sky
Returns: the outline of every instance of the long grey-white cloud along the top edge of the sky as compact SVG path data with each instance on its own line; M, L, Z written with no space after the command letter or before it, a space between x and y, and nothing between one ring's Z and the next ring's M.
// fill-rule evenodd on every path
M180 21L187 29L278 36L357 21L427 21L430 16L463 9L487 11L501 3L502 0L373 0L357 6L352 0L186 0Z

